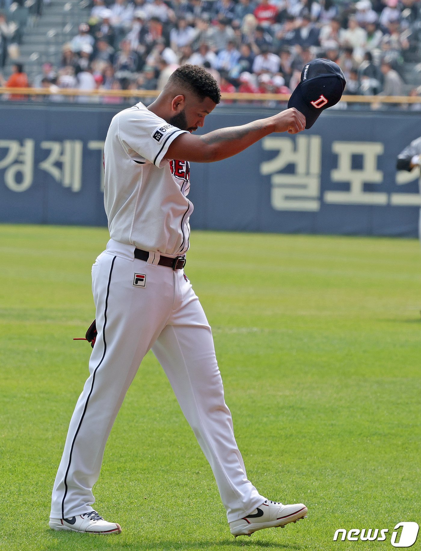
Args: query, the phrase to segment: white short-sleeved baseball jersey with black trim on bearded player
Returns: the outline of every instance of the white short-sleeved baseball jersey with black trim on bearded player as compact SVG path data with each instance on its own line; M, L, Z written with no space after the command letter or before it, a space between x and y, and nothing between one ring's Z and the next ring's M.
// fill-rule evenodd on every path
M104 203L115 241L168 256L188 250L190 166L166 157L184 132L141 103L113 117L104 147Z

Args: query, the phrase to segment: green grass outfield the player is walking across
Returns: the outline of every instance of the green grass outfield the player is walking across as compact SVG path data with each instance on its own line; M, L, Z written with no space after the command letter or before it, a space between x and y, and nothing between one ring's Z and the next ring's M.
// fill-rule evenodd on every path
M150 354L94 490L122 534L51 531L91 350L72 338L94 318L90 269L107 239L98 228L0 226L2 550L377 551L393 549L398 522L421 524L418 241L196 231L185 271L214 331L248 477L269 499L307 504L308 518L234 540ZM389 534L333 542L338 528Z

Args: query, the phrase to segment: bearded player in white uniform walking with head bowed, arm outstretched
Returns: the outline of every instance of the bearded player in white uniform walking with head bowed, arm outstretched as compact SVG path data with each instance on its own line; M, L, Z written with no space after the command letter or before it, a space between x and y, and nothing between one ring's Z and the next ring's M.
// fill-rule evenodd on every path
M211 328L183 271L193 212L189 161L225 159L271 132L298 133L305 117L288 109L193 136L220 97L205 69L184 65L149 107L138 103L111 121L104 149L111 239L92 267L97 337L54 482L54 530L121 532L92 509L92 487L114 419L150 349L211 465L231 533L250 535L307 514L301 503L266 499L247 479Z

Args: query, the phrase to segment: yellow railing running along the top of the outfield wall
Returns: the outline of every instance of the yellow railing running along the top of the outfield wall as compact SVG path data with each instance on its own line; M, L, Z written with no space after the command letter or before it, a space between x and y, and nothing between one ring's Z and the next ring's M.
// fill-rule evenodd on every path
M160 94L160 90L76 90L76 89L47 89L47 88L1 88L0 95L6 94L7 98L12 96L12 99L28 100L31 96L67 96L80 97L87 96L89 98L156 98ZM15 96L13 98L13 96ZM290 98L289 94L244 94L240 92L222 93L224 101L278 101L287 102ZM4 98L4 99L7 99ZM347 103L358 104L421 104L420 96L354 96L343 95L341 101Z

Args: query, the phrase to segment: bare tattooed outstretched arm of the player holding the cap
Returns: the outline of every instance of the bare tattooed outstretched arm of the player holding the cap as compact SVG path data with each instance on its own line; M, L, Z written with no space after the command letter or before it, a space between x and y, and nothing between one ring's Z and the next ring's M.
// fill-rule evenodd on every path
M194 163L212 163L232 157L272 132L297 134L305 128L305 117L297 109L287 109L273 117L249 122L247 125L220 128L204 134L181 134L166 154L166 158Z

